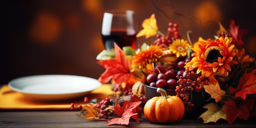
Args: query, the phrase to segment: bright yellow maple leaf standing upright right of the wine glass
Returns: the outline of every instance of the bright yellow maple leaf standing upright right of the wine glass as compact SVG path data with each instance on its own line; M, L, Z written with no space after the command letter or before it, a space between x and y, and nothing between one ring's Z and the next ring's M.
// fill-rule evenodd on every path
M149 38L150 36L155 36L158 31L157 20L155 19L155 13L153 13L150 18L146 18L142 25L143 29L139 31L136 37L146 36L145 38Z

